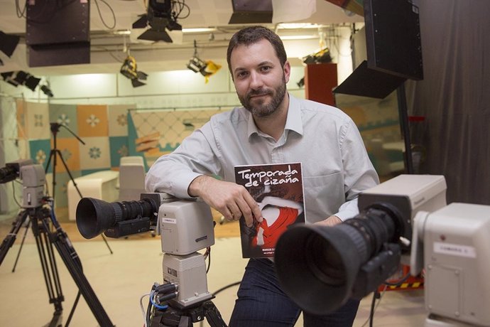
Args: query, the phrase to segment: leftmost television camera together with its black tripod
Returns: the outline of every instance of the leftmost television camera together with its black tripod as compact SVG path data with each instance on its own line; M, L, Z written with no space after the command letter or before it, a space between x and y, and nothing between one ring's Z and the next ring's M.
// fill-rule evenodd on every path
M46 287L48 288L49 303L55 307L53 318L49 326L60 326L62 320L62 294L58 266L55 260L54 248L58 250L61 259L65 263L67 270L77 284L79 294L77 300L70 312L70 321L75 311L80 294L84 296L89 308L94 313L94 317L100 326L114 326L107 313L104 311L102 304L94 294L85 274L82 272L82 262L78 257L72 242L68 239L65 231L62 230L58 220L55 218L53 211L53 198L44 194L45 171L40 164L33 164L31 159L21 159L6 164L0 168L0 183L7 183L20 178L22 181L23 201L20 213L12 223L9 234L5 237L0 245L0 264L4 261L7 252L16 241L16 235L21 227L27 222L26 228L31 225L33 235L36 238L36 246L43 268L43 276ZM20 254L20 253L19 253Z

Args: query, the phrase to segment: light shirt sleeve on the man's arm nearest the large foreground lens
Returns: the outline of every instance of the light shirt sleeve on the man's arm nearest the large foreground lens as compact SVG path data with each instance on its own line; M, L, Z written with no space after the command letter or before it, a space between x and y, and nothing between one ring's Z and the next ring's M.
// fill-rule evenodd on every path
M359 214L357 197L359 193L379 184L379 176L374 169L364 146L364 141L356 125L349 119L339 136L342 163L344 166L344 191L346 202L334 213L344 221Z

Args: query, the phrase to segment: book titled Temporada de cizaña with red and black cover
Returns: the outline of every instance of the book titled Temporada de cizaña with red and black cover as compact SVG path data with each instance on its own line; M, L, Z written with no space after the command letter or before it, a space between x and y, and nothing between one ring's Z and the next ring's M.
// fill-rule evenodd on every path
M235 182L244 186L262 210L248 227L240 218L244 258L273 257L276 242L288 226L305 223L301 163L235 166Z

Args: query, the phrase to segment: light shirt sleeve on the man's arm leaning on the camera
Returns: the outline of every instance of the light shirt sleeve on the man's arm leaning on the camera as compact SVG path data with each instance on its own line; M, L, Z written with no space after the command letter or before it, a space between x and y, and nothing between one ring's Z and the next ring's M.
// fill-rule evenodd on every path
M191 198L187 189L197 176L218 174L220 171L212 140L211 124L208 122L187 136L171 154L160 156L146 174L146 191Z

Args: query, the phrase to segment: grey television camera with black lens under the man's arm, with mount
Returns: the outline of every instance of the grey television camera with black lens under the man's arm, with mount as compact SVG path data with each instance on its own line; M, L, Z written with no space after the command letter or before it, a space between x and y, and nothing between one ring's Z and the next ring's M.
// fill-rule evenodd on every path
M142 193L140 198L114 203L82 198L76 213L80 234L124 237L156 231L161 235L165 284L152 289L146 324L192 326L207 318L211 326L226 326L207 290L205 256L214 245L209 206L200 199L180 200L166 193ZM205 254L197 252L204 249Z

